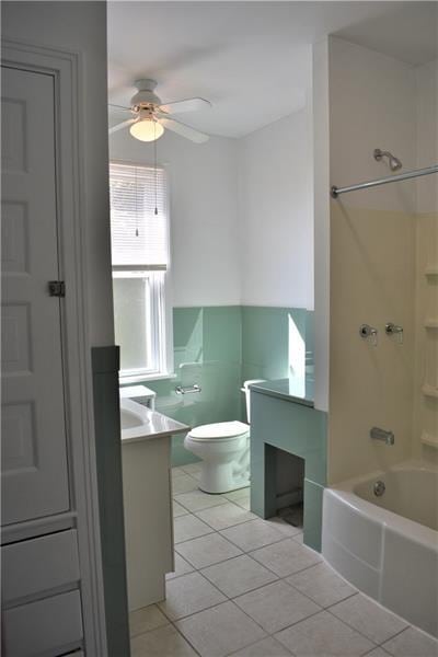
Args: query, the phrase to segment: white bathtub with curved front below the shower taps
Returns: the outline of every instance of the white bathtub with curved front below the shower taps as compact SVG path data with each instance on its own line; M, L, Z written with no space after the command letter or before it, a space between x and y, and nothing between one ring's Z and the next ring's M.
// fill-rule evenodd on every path
M438 636L438 466L405 462L325 488L322 553L359 590Z

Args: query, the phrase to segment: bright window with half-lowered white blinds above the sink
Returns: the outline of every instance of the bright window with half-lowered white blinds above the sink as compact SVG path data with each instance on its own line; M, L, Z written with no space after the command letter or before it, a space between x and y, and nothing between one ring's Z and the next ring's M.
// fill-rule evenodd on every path
M114 322L122 377L169 373L165 284L168 183L163 169L110 165Z

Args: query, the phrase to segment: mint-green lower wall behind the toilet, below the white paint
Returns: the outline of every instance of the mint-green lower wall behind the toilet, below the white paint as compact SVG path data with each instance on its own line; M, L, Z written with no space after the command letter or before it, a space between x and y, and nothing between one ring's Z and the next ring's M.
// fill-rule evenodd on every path
M302 309L216 306L173 309L175 378L145 381L157 392L157 410L189 426L245 419L241 392L246 379L288 376L288 323L293 319L309 351L312 312ZM177 395L198 383L200 393ZM174 437L172 464L196 460Z

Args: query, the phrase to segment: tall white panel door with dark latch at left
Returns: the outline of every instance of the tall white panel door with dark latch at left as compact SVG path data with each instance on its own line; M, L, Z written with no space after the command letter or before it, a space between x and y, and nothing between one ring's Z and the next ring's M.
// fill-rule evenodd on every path
M2 67L2 523L68 510L51 76Z

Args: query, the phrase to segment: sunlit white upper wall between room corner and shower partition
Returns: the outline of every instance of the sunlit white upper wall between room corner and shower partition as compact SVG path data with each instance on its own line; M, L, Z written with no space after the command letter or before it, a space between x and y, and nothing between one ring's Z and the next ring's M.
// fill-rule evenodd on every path
M311 106L242 138L242 303L313 309Z

